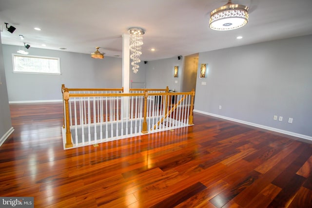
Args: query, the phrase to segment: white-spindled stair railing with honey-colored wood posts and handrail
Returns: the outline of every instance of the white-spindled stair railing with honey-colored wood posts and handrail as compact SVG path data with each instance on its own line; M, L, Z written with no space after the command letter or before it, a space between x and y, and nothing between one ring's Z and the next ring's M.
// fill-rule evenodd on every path
M195 92L83 93L63 88L65 148L193 125ZM113 90L111 90L113 92ZM153 93L149 93L153 92Z

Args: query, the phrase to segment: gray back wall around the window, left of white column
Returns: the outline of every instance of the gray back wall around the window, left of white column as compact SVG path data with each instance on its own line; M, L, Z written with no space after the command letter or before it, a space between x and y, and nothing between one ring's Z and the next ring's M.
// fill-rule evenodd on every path
M122 59L94 59L88 54L29 48L29 55L59 57L61 75L13 73L12 54L18 46L2 45L9 101L59 100L68 88L121 88Z

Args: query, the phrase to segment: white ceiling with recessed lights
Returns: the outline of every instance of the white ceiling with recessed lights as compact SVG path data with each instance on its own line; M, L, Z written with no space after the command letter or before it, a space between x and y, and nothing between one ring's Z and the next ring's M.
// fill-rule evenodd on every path
M208 26L210 12L227 0L0 0L1 40L85 54L99 46L105 56L121 57L122 34L141 27L141 60L155 60L312 34L312 0L232 2L250 7L248 24L214 31ZM4 22L16 31L6 31Z

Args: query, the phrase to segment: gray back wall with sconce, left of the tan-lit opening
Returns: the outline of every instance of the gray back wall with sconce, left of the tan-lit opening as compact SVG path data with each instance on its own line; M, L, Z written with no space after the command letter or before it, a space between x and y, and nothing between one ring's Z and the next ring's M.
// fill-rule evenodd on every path
M179 66L178 77L174 77L175 66ZM148 61L145 70L147 88L165 88L168 86L170 90L175 89L176 92L181 92L183 58L182 60L173 57Z

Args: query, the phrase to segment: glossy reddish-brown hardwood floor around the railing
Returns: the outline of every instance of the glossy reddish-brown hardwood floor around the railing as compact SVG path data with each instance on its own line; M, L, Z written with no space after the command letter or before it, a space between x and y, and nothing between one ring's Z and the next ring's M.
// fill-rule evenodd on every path
M35 208L311 208L312 143L194 113L195 126L63 150L62 104L12 104L0 196Z

